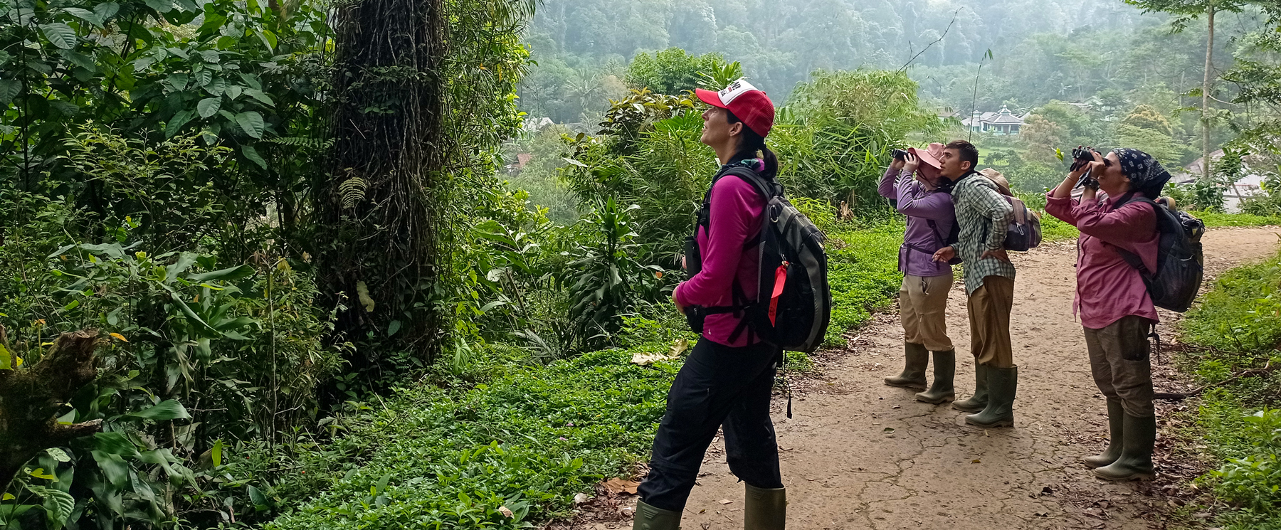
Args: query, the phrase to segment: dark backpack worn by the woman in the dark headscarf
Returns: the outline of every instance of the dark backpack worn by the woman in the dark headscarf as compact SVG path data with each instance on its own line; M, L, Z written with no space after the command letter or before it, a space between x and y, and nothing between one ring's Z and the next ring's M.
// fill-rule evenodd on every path
M1200 237L1205 224L1182 211L1175 211L1148 197L1125 195L1113 206L1118 209L1130 202L1146 202L1157 214L1157 230L1161 239L1157 243L1157 270L1150 271L1134 252L1117 247L1121 259L1139 270L1143 283L1148 285L1152 303L1176 312L1187 311L1196 292L1200 291L1205 274Z

